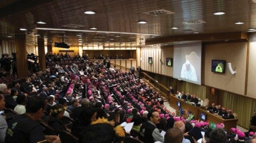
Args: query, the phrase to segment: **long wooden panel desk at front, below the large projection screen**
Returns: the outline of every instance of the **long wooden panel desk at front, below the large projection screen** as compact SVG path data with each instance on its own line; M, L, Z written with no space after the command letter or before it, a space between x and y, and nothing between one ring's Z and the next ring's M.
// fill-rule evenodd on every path
M183 100L181 99L178 99L174 96L170 96L169 98L169 104L171 107L173 107L174 109L178 110L179 107L177 106L177 101L179 101L181 103L181 107L184 109L184 110L189 110L191 111L194 115L195 115L195 120L198 120L200 119L200 112L204 113L206 115L206 120L209 121L209 122L212 122L212 123L216 123L216 124L219 124L219 123L224 123L225 125L225 129L227 131L230 131L230 128L237 128L237 122L238 122L238 119L228 119L228 120L225 120L217 115L214 115L210 112L207 112L205 110L205 107L201 106L201 107L196 107L196 106L193 106L193 105L190 105L190 104L187 104L186 102L184 102Z

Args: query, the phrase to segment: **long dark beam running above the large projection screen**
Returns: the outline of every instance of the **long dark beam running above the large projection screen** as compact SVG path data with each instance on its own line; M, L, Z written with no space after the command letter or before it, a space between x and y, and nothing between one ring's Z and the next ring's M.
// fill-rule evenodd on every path
M177 35L170 37L159 37L157 39L146 40L145 45L153 45L177 41L224 41L224 40L240 40L247 39L247 34L242 32L232 33L214 33L214 34L190 34L190 35Z

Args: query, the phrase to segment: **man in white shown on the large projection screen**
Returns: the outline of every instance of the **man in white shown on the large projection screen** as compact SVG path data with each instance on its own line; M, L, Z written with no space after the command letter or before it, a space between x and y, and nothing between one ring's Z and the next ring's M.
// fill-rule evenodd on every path
M182 65L180 76L188 80L198 81L196 70L188 60Z

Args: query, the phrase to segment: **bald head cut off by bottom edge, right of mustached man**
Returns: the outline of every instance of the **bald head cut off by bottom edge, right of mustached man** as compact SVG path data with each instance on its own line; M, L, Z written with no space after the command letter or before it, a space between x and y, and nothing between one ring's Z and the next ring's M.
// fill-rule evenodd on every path
M183 134L178 128L170 128L164 135L164 143L181 143L183 140Z

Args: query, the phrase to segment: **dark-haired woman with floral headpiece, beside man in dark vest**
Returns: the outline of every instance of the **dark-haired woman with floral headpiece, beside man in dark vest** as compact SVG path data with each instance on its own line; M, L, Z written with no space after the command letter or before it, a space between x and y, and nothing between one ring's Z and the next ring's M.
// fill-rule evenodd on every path
M56 104L52 106L49 120L48 120L48 125L53 127L53 129L55 129L56 131L64 130L64 131L71 132L71 130L68 129L61 121L61 118L63 117L65 110L66 110L66 107L64 107L61 104Z

